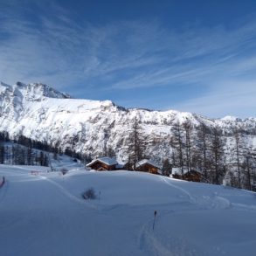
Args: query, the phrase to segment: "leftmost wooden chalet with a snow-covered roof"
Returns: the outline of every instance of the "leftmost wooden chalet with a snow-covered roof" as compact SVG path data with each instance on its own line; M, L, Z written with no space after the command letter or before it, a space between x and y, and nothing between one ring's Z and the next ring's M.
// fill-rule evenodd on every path
M111 157L100 157L94 159L91 163L86 164L93 170L118 170L119 164L116 162L115 158Z

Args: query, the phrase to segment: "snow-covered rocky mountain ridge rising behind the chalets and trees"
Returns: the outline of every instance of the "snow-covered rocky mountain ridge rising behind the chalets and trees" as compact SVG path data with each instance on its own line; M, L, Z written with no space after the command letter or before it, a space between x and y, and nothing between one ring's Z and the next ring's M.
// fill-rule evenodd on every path
M125 162L135 117L147 138L147 155L159 163L171 156L171 127L177 121L189 120L194 128L201 123L208 128L218 125L227 144L232 128L241 128L247 147L256 149L256 118L253 117L209 119L173 110L127 109L109 100L71 99L66 93L40 83L0 85L0 131L86 155L99 156L107 147L114 149L118 160Z

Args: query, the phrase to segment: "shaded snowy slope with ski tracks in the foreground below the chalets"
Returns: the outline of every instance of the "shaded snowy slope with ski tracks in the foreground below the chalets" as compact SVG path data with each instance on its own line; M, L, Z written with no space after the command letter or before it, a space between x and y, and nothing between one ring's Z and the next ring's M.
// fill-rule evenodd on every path
M68 169L0 165L0 255L256 255L255 193ZM86 201L90 187L98 198Z

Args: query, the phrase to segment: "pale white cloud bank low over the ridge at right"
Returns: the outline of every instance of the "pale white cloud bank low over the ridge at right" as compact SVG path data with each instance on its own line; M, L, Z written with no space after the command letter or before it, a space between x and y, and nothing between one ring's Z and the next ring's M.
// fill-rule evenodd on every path
M228 80L213 84L211 91L176 104L176 109L190 111L211 117L233 115L238 117L255 117L256 82L246 80Z

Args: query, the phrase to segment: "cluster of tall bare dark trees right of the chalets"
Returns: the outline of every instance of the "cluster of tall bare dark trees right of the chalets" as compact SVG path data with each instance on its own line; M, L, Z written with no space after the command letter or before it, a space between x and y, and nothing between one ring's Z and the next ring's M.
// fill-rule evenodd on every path
M232 128L224 136L218 126L208 128L204 123L194 128L189 120L172 127L171 146L173 166L201 172L204 182L252 190L256 181L256 152L248 147L246 136Z

